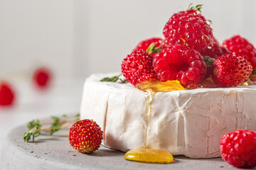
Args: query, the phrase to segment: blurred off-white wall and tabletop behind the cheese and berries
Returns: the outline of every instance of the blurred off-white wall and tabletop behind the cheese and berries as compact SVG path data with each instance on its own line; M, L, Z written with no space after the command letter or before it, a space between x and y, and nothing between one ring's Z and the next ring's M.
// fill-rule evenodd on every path
M16 89L15 105L0 108L0 151L17 125L78 113L85 77L120 71L139 41L162 37L166 21L191 2L203 4L220 42L240 34L256 45L254 0L0 0L0 79ZM40 65L55 75L44 93L30 84Z

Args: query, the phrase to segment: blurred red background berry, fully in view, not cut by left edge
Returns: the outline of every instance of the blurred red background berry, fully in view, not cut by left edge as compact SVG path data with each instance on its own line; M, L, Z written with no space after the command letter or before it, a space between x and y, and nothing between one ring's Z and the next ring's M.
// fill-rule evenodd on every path
M50 84L52 73L47 67L40 67L33 73L33 82L41 89L45 89Z

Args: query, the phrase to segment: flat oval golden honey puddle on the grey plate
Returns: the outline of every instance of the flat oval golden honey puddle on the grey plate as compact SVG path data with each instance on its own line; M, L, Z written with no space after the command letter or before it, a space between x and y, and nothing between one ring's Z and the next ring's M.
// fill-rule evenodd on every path
M166 151L147 147L132 149L124 154L124 158L134 162L168 164L174 162L174 157Z

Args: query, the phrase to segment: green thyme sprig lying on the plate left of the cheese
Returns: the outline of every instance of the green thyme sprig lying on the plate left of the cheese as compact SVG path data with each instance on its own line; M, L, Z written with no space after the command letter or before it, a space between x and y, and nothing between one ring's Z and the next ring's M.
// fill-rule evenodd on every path
M23 134L23 140L25 142L29 142L29 140L34 141L35 137L38 137L41 135L41 131L48 130L49 135L53 135L54 132L57 132L58 130L68 128L70 125L73 125L76 121L79 120L80 114L75 115L74 120L68 120L67 115L63 115L63 118L59 118L57 116L52 116L51 122L45 122L41 123L40 120L32 120L27 124L28 131L24 132ZM43 126L50 125L48 128L42 128Z

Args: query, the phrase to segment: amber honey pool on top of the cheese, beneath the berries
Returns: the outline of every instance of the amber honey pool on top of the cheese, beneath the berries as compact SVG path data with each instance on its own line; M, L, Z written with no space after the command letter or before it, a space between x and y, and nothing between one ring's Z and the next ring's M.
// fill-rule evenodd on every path
M136 88L141 91L153 91L155 93L186 90L181 86L178 80L165 82L161 82L159 80L143 81L142 83L137 84Z

